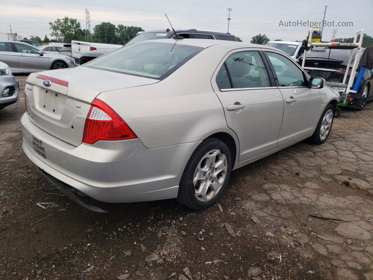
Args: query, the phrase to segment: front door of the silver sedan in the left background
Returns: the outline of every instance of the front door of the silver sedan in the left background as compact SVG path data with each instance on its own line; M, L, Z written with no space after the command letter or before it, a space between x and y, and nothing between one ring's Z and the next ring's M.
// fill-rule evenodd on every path
M28 44L13 43L18 56L20 71L49 70L48 54L39 54L39 49Z

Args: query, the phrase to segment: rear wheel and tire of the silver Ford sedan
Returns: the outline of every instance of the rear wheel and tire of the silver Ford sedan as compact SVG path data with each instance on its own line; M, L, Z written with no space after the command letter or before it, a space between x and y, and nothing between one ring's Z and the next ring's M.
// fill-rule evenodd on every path
M232 169L228 146L207 138L194 150L184 169L177 200L192 209L213 205L225 190Z

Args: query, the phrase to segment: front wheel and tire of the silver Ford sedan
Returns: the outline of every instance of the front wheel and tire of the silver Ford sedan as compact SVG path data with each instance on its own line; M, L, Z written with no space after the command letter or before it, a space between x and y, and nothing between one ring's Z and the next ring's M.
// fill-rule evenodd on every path
M310 137L310 142L316 145L324 143L329 136L330 130L332 130L333 120L334 107L332 104L328 104L321 114L314 133Z

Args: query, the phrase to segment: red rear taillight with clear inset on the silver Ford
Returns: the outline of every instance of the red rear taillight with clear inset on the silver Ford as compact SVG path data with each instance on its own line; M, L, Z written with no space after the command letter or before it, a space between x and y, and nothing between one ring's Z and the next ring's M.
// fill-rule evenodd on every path
M125 121L105 102L95 98L85 120L83 143L137 138Z

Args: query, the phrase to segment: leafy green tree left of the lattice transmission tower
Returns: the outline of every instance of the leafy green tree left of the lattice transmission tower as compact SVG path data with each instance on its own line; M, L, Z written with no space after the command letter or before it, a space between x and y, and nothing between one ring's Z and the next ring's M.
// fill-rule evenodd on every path
M65 16L63 19L57 18L56 21L49 23L49 28L52 30L52 36L61 43L71 43L71 40L82 39L82 29L80 22L75 18L68 18Z

